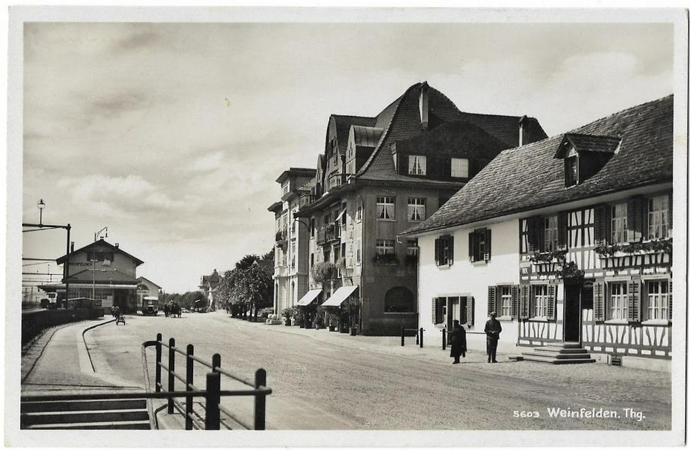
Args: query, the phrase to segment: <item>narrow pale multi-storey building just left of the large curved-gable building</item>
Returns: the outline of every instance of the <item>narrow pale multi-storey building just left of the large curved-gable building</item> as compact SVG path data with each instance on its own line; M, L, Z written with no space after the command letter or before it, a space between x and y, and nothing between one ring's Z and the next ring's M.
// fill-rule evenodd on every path
M275 215L273 311L278 315L294 306L309 289L308 223L304 219L301 224L297 222L295 213L308 197L307 183L315 175L315 169L291 167L275 180L280 184L281 197L268 211Z

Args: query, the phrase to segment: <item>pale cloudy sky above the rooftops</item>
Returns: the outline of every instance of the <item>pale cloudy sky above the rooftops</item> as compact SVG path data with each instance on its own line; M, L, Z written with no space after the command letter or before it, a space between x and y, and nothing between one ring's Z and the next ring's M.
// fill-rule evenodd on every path
M551 136L673 92L668 24L25 23L23 38L23 222L43 199L76 248L107 226L166 292L270 251L275 179L315 168L331 114L376 115L428 81ZM65 252L64 231L23 237L24 257Z

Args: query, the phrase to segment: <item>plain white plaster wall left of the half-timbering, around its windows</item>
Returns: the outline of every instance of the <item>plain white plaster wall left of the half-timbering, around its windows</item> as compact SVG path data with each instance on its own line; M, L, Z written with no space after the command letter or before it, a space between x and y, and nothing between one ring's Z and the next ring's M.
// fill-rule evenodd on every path
M474 228L453 232L453 265L437 267L434 260L434 241L441 234L420 237L420 280L419 312L420 326L425 330L425 344L440 345L442 326L433 324L431 299L451 295L475 297L474 326L469 331L484 331L488 320L489 286L497 284L520 283L520 242L517 219L500 222L491 226L491 260L469 262L469 233ZM517 343L517 317L512 321L501 322L500 351L515 351ZM482 335L468 334L469 349L484 351L486 338Z

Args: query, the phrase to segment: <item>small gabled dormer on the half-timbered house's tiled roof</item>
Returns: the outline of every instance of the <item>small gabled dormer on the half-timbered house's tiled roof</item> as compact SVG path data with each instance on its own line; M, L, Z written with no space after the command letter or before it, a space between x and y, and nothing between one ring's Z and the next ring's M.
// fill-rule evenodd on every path
M597 173L618 151L620 138L566 133L555 159L563 159L565 186L576 186Z

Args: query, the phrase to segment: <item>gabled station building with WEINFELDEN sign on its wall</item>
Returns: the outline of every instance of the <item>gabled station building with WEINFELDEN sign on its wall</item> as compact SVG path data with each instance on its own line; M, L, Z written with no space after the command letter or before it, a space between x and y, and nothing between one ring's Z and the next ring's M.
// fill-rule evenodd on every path
M57 264L65 264L67 255ZM144 261L101 239L85 247L70 251L70 298L93 298L104 308L119 306L124 311L137 309L137 266ZM57 292L58 300L65 298L65 282L40 286L46 292Z

